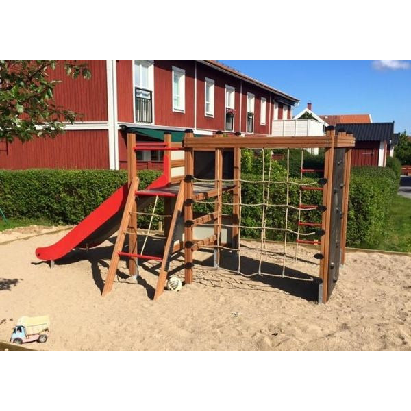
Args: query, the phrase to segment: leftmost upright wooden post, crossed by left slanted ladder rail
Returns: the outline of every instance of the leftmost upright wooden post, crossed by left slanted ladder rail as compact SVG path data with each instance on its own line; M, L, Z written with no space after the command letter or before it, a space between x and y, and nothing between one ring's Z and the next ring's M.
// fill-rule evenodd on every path
M137 159L136 151L136 134L127 134L127 171L128 171L128 186L129 189L133 180L137 176ZM132 209L130 210L130 218L127 227L129 253L137 253L137 201L134 201ZM121 251L121 250L119 250ZM135 276L137 273L136 258L130 257L128 261L129 275Z

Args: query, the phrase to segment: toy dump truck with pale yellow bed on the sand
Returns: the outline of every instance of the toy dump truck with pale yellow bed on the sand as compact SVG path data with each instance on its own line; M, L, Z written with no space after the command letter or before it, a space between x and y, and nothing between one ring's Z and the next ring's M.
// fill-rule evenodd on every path
M45 343L49 336L49 328L50 319L48 315L23 316L18 319L10 341L14 344L32 343L32 341Z

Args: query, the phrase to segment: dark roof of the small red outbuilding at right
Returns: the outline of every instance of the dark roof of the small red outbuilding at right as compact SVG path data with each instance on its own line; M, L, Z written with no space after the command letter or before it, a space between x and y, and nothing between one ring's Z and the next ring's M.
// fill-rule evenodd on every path
M336 132L345 130L352 133L356 141L388 141L393 140L393 123L347 123L337 124Z

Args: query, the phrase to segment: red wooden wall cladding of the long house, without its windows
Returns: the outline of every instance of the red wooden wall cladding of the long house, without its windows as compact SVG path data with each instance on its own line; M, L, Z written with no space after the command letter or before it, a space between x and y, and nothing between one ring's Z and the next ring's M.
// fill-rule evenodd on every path
M225 86L235 88L233 132L247 132L247 92L254 95L254 134L270 134L274 118L274 101L284 93L275 92L225 66L194 60L153 62L153 122L135 122L134 61L90 60L86 62L92 73L90 80L66 76L62 62L51 79L62 82L55 87L55 103L79 114L75 125L68 125L65 134L54 140L36 139L21 145L16 141L8 150L0 147L0 169L73 168L117 169L127 160L125 141L119 125L140 127L191 128L197 132L225 131ZM111 65L110 65L111 64ZM214 65L213 65L214 64ZM185 110L173 111L172 67L185 71ZM205 114L205 78L214 80L214 116ZM266 99L266 121L260 122L261 98ZM290 104L297 101L290 97ZM282 103L277 110L282 116ZM288 105L288 117L291 116ZM146 162L154 166L153 162ZM153 165L154 164L154 165ZM142 165L143 166L143 165Z

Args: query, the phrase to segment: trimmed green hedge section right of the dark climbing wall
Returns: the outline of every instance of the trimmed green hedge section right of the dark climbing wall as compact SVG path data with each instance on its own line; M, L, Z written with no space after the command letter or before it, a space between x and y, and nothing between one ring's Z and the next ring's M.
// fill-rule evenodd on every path
M386 232L398 178L390 168L354 167L349 188L347 245L373 247Z

